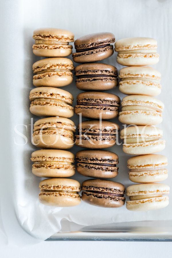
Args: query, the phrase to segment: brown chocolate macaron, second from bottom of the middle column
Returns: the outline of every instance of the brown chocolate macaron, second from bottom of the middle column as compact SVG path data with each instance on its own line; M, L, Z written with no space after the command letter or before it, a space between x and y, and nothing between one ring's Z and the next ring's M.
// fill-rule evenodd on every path
M80 150L77 171L85 177L113 178L118 175L118 155L107 150Z

